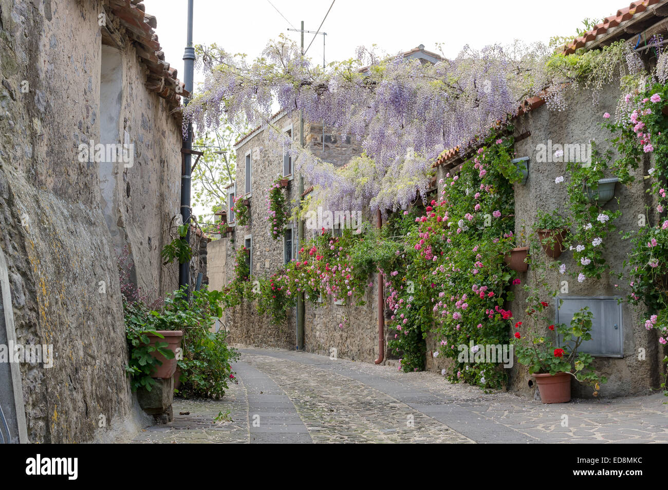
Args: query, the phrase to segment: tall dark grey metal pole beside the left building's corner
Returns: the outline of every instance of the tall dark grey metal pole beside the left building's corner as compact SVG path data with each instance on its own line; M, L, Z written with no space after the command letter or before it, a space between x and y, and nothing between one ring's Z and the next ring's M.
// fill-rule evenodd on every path
M186 38L186 50L183 53L183 82L188 94L192 94L192 79L194 78L195 49L192 47L192 3L188 0L188 34ZM190 99L184 98L184 106L188 105ZM184 151L183 151L184 150ZM181 217L185 224L190 224L190 172L192 170L192 124L188 124L188 135L183 140L182 155L183 164L181 166ZM188 233L184 238L186 243L190 243L190 226ZM190 261L179 264L178 266L178 285L187 285L190 287Z

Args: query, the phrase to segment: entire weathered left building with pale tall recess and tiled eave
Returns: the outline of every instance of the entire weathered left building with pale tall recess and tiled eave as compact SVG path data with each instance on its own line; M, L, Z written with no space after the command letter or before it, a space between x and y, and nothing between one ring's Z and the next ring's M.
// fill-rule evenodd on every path
M53 349L51 368L0 363L15 441L110 440L140 420L115 257L128 249L152 297L178 285L160 250L183 90L154 27L135 0L0 0L0 344Z

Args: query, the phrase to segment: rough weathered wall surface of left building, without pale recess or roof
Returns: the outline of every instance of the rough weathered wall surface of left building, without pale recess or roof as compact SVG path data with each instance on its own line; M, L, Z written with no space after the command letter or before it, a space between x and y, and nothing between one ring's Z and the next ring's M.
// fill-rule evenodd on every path
M108 440L140 421L131 416L128 422L136 410L124 371L122 301L98 168L77 160L80 142L100 140L100 2L0 0L0 10L0 246L18 341L53 344L55 351L51 369L21 365L29 440ZM124 107L136 112L128 118L140 144L123 178L141 199L121 202L126 223L142 230L128 233L139 275L159 285L158 223L168 207L178 212L180 128L168 121L162 101L146 93L144 78L136 78L136 55L124 59ZM20 90L23 80L27 93ZM148 123L154 118L164 126ZM158 213L161 200L166 205ZM140 254L147 236L158 243ZM105 281L104 294L99 281ZM100 415L106 428L98 428Z

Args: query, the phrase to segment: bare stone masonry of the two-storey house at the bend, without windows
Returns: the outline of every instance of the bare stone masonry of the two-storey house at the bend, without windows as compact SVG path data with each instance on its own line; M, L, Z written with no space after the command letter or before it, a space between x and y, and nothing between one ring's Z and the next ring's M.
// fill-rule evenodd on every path
M278 128L293 128L293 140L299 142L299 114L287 114L279 118L275 123ZM251 223L247 227L236 227L231 237L220 240L218 247L225 247L224 273L218 271L210 272L214 283L224 283L218 277L225 277L229 281L234 275L234 261L236 250L244 244L247 235L253 236L253 275L271 275L283 265L283 240L273 240L267 224L267 190L273 183L277 174L283 173L283 160L269 158L261 152L263 134L257 134L244 141L236 148L237 171L236 190L237 195L244 189L245 185L245 156L251 152L253 156L252 172L252 197L251 197ZM323 153L323 140L325 151ZM353 156L361 154L361 143L351 138L341 138L341 135L331 134L325 130L323 139L322 125L305 124L305 142L309 149L323 160L337 166L349 162ZM305 181L305 189L309 189L312 183ZM295 207L299 195L299 176L294 176L286 189L287 202L291 209ZM371 221L372 217L365 213L365 219ZM293 257L297 252L297 221L291 223L293 227ZM316 231L305 229L305 239L312 236ZM212 267L214 259L209 257ZM216 259L220 263L221 259ZM218 270L219 265L216 265ZM210 271L214 269L210 268ZM216 275L216 279L213 279ZM370 281L371 282L371 281ZM337 356L373 362L378 356L377 339L377 283L373 279L373 291L367 291L366 304L361 306L334 304L329 298L326 303L315 306L306 301L305 307L305 350L319 354L331 354L331 349L337 350ZM281 326L271 326L269 318L261 317L255 312L253 305L241 305L233 311L226 312L224 323L230 328L230 340L239 344L250 344L255 346L274 346L294 349L296 346L297 320L295 308L289 312L287 322ZM342 327L339 327L339 324Z

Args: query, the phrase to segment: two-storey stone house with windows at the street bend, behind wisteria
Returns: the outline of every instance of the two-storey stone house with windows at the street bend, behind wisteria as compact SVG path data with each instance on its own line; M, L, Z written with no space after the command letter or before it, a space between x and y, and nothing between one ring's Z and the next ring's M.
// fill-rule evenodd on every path
M407 59L420 59L424 63L433 63L440 59L436 53L426 51L420 45L406 51ZM299 113L283 112L276 114L271 124L288 133L294 142L299 144ZM322 124L304 125L305 145L325 162L335 166L343 166L362 152L361 141L350 136L332 134ZM234 145L236 150L236 180L229 188L228 203L232 197L248 197L251 201L251 220L248 226L240 227L234 223L234 213L228 205L227 219L234 232L208 245L208 267L210 286L224 285L234 275L234 263L238 247L251 249L251 273L269 276L278 267L297 256L299 241L297 239L297 221L288 227L284 237L274 240L267 223L268 191L277 176L289 179L286 189L286 201L293 209L300 197L307 196L313 186L305 181L305 192L299 196L299 176L293 172L289 157L270 158L263 148L263 129L257 128L242 136ZM364 220L375 223L375 215L368 210L349 210L363 213ZM331 229L330 233L338 233ZM309 233L319 233L305 227L305 238ZM224 264L222 266L221 264ZM216 271L216 273L214 273ZM371 281L370 281L371 282ZM337 356L373 362L379 357L377 330L377 279L373 279L373 288L365 293L365 305L349 305L339 301L334 303L325 298L325 304L313 308L305 301L305 332L304 346L308 352L333 354ZM257 315L253 305L244 304L224 314L223 324L230 330L230 342L255 346L276 346L294 349L297 345L297 315L295 308L290 312L288 320L281 326L271 326L268 318ZM339 324L344 326L341 328ZM388 338L389 332L385 332ZM387 345L387 342L385 342ZM383 353L386 358L386 354Z

